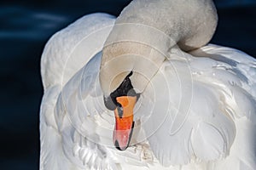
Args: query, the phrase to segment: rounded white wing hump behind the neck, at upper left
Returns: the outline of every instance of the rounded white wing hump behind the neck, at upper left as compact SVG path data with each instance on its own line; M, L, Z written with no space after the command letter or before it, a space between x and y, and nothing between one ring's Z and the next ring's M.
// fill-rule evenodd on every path
M88 14L50 37L41 58L44 89L65 85L94 55L113 27L110 14Z

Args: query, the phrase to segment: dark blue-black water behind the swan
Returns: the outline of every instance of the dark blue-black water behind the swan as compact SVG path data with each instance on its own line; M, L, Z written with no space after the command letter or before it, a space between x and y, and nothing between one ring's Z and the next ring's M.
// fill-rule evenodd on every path
M212 43L256 56L256 0L217 0ZM0 169L38 169L40 56L56 31L84 14L118 15L130 0L0 1Z

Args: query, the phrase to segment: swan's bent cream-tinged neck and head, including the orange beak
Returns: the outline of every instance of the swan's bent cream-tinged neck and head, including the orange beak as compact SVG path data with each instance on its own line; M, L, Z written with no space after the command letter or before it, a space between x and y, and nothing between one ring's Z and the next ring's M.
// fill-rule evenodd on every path
M151 1L145 5L143 1L132 1L104 43L99 79L105 105L116 117L113 144L119 150L129 145L133 107L139 94L146 91L164 61L177 51L201 48L212 38L218 20L214 4L191 4ZM166 10L167 5L172 10Z

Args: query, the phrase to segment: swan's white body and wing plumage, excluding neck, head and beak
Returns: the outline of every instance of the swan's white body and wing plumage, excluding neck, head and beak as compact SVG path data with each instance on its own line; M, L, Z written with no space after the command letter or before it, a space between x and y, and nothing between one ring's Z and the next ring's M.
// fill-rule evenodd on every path
M40 169L256 169L256 61L213 44L172 48L137 101L131 145L114 148L99 79L114 21L86 15L44 48Z

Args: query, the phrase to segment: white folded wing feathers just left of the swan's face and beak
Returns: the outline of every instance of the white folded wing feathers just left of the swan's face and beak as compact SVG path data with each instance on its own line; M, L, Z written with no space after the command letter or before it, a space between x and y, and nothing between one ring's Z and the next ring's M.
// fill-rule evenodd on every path
M108 150L113 147L113 116L105 109L98 79L101 59L101 53L96 54L62 88L55 120L64 154L74 165L116 169L116 159Z

